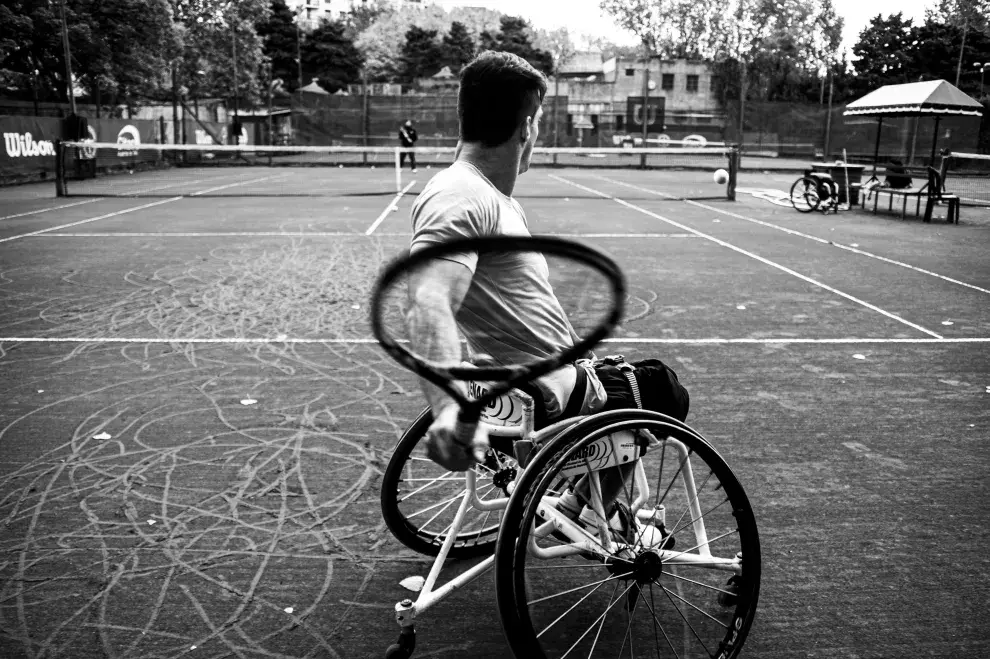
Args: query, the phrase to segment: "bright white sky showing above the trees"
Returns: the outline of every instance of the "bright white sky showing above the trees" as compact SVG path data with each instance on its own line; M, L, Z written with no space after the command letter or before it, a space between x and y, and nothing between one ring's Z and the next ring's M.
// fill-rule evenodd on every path
M628 32L603 17L598 0L435 0L444 7L468 6L498 9L504 14L524 16L536 27L552 29L566 26L572 34L608 37L616 43L635 43ZM924 19L925 8L935 0L833 0L836 13L845 19L843 48L852 49L860 31L870 18L903 12L915 22Z

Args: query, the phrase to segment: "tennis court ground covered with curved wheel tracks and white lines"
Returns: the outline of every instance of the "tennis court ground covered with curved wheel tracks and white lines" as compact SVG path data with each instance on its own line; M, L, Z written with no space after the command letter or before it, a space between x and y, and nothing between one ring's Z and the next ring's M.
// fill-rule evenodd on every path
M402 194L387 164L0 189L0 656L384 654L430 563L379 512L423 402L367 302L440 165ZM537 168L517 192L534 233L619 261L598 352L673 366L746 488L742 656L990 654L987 211L800 215L765 193L796 172L743 170L734 202L696 173ZM506 656L491 576L417 632L419 657Z

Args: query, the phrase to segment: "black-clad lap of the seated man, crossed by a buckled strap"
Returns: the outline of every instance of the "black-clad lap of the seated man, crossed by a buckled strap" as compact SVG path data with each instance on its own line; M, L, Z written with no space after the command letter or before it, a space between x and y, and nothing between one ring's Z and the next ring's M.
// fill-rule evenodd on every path
M596 361L595 373L608 394L602 411L626 408L653 410L679 421L688 415L691 397L674 369L659 359L628 363L622 355Z

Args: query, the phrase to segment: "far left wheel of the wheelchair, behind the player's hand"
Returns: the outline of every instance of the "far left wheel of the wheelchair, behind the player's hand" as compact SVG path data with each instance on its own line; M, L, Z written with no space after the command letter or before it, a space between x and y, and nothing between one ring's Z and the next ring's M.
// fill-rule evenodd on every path
M436 556L464 492L462 474L450 472L426 457L420 442L433 422L423 410L399 439L382 479L382 516L392 535L406 547ZM482 501L508 496L504 483L513 480L516 461L492 449L488 461L475 467ZM502 487L493 478L498 476ZM454 559L491 555L502 510L471 509L448 556Z

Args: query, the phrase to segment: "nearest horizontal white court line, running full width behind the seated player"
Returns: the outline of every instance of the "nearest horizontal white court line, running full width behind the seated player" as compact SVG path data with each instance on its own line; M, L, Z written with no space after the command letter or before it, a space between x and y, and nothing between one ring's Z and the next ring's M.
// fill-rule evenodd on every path
M271 339L248 339L248 338L227 338L227 339L205 339L205 338L174 338L165 339L161 337L37 337L37 336L0 336L0 343L190 343L204 345L258 345L269 343L293 343L293 344L334 344L334 345L374 345L377 339L294 339L271 338ZM990 337L958 337L958 338L938 338L938 339L887 339L887 338L833 338L833 339L751 339L736 338L725 339L713 337L707 339L650 339L635 338L604 339L602 343L621 343L625 345L886 345L886 344L911 344L911 345L938 345L938 344L968 344L968 343L990 343Z

